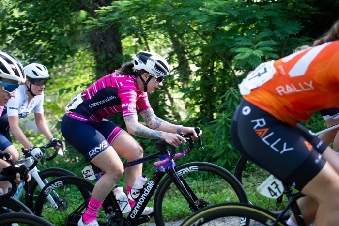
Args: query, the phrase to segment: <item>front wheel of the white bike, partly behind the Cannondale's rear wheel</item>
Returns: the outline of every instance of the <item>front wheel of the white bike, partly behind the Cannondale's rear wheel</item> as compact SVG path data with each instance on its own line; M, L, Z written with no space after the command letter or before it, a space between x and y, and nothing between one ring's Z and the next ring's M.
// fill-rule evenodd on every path
M77 176L71 171L62 168L46 168L38 172L41 180L47 179L47 181L52 181L55 178L62 177L62 176ZM31 181L28 184L28 193L26 192L25 195L25 204L31 210L34 211L35 200L39 195L41 189L38 186L38 182L31 177ZM30 195L28 195L30 194Z

